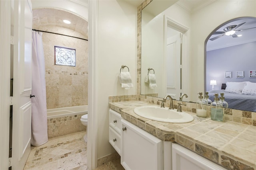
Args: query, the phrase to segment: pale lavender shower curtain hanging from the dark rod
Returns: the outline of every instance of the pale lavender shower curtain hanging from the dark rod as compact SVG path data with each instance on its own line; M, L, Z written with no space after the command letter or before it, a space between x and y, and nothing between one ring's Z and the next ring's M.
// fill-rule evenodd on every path
M32 31L31 145L48 142L45 66L42 33Z

